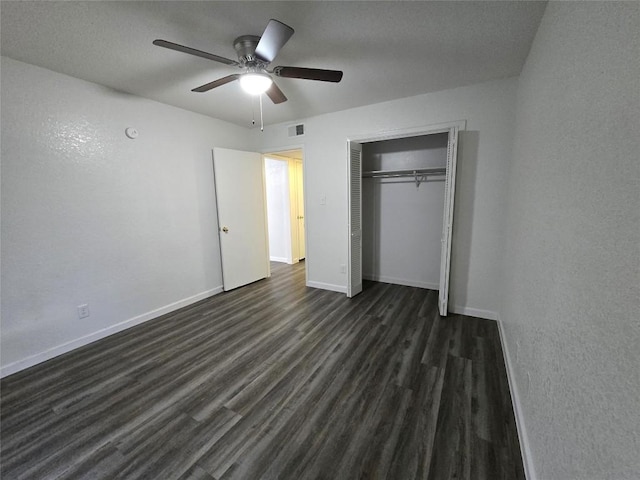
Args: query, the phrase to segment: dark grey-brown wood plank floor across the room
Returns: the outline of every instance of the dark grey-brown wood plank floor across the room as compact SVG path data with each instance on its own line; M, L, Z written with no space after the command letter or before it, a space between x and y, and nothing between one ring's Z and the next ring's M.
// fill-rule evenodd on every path
M524 479L493 321L304 266L11 375L3 479Z

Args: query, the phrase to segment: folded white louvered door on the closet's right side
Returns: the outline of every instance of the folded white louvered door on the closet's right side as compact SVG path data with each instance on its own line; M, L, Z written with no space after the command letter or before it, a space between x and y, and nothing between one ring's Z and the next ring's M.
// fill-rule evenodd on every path
M456 163L458 152L458 128L449 130L447 144L447 178L444 190L444 216L442 221L442 249L440 256L440 288L438 307L446 316L449 303L449 273L451 269L451 234L453 225L453 201L456 191Z

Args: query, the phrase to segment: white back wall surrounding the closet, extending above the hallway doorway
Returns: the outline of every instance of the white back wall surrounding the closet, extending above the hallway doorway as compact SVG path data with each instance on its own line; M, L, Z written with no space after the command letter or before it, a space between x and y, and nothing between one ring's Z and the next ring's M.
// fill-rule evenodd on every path
M291 123L254 132L263 151L304 144L308 283L346 291L340 265L347 263L347 138L466 120L458 153L450 304L495 318L516 88L517 79L510 78L312 117L303 120L303 137L288 137Z

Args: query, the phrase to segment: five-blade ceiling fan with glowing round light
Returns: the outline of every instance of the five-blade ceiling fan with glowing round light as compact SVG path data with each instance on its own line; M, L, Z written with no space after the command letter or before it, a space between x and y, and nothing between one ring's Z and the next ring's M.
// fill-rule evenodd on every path
M242 73L227 75L213 82L206 83L191 90L192 92L208 92L209 90L233 82L240 81L242 88L248 93L258 95L266 93L273 103L287 101L282 90L273 82L271 75L285 78L302 78L306 80L319 80L321 82L339 82L342 80L342 72L339 70L324 70L319 68L301 68L278 66L269 70L269 64L276 57L280 49L293 35L293 28L278 20L271 19L261 37L256 35L242 35L233 42L233 47L238 55L238 61L220 57L213 53L203 52L195 48L185 47L167 40L154 40L153 44L159 47L176 50L182 53L206 58L214 62L235 66L243 70Z

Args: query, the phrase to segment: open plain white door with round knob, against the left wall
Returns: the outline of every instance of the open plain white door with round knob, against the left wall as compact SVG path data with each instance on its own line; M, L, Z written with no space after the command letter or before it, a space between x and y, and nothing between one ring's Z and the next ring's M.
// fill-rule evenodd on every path
M213 149L225 291L269 276L264 166L256 152Z

